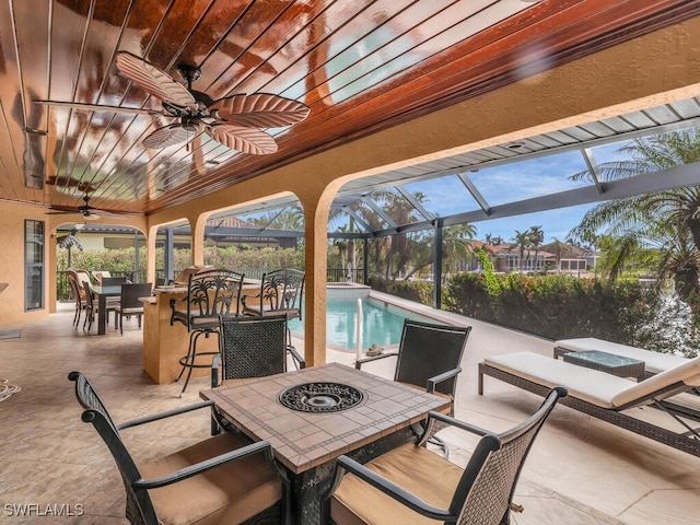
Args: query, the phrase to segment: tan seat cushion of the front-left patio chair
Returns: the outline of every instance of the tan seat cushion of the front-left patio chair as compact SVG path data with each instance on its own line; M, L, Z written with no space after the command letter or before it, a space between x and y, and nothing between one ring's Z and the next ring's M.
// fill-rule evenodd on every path
M248 442L222 433L141 467L144 478L240 448ZM230 463L168 487L149 491L163 525L241 523L272 506L282 497L282 486L261 454Z

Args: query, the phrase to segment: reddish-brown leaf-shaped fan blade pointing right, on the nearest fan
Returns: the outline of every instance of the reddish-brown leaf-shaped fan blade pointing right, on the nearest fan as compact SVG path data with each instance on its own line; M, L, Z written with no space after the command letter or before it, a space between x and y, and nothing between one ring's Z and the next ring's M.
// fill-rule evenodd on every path
M280 128L304 120L308 106L301 102L268 93L233 95L211 104L209 114L234 126Z

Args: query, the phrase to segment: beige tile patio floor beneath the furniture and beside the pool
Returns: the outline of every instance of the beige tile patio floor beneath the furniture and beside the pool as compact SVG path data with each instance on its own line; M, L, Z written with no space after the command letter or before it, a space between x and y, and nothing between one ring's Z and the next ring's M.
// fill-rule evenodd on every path
M0 377L22 390L0 402L0 524L126 523L119 517L120 478L92 425L80 420L70 371L88 375L116 421L195 402L207 386L207 378L196 378L179 399L177 384L153 384L141 368L136 319L125 324L120 337L114 329L96 336L94 326L86 334L73 328L71 318L72 305L62 304L46 320L2 327L22 330L20 338L0 339ZM477 363L487 354L518 350L550 354L551 341L468 323L474 329L456 415L488 429L509 428L540 399L492 378L479 396ZM328 361L353 359L354 353L328 351ZM154 432L148 425L125 431L137 460L203 439L209 423L206 413L195 412ZM451 458L464 464L472 439L448 430L442 435L451 443ZM516 525L698 524L700 458L557 407L525 465L515 501L524 506L513 516ZM20 515L22 505L34 506Z

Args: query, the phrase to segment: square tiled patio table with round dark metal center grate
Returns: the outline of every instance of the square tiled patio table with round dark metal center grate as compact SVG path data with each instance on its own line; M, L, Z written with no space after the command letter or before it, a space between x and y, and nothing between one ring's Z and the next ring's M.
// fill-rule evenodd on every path
M280 394L304 384L357 388L362 400L337 412L300 411ZM338 363L202 390L221 413L255 441L268 440L292 482L292 514L299 524L320 523L320 500L330 487L335 459L349 455L364 463L410 441L411 424L431 410L450 407L444 397Z

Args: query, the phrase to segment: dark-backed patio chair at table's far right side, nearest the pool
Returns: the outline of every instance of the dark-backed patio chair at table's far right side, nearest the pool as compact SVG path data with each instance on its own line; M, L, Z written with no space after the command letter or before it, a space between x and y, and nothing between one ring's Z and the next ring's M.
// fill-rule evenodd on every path
M470 331L470 326L405 319L398 351L359 359L354 366L361 370L362 365L374 361L396 358L394 381L450 398L452 416L457 376L462 372L462 357ZM417 431L422 429L417 428ZM440 438L431 438L431 443L439 445L447 457L450 448Z

